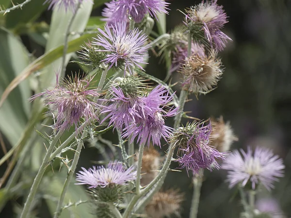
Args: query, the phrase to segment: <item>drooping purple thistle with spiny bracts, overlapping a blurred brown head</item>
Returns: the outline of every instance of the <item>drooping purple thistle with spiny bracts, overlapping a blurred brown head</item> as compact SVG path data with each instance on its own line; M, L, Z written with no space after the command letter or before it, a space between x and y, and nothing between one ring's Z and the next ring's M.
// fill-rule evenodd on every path
M171 143L178 146L177 161L180 167L186 168L187 172L193 171L193 174L200 169L219 169L216 159L225 159L224 153L210 146L211 124L204 124L187 124L178 128L171 138Z

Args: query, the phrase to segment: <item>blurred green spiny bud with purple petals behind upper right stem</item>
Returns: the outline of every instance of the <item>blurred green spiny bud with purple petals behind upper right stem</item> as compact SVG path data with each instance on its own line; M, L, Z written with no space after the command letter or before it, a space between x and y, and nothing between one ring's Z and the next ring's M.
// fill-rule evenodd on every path
M188 39L186 34L186 29L184 26L177 26L171 33L169 37L164 38L160 45L159 56L162 56L162 59L171 57L172 66L170 73L179 69L181 64L183 64L188 57ZM198 55L203 57L204 48L203 46L193 43L191 46L192 55Z

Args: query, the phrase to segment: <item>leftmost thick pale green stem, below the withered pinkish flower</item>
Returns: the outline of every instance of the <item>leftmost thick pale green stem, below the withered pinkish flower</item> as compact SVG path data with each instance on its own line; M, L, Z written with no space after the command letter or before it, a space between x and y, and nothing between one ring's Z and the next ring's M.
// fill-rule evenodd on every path
M55 145L57 144L57 142L59 141L60 137L62 136L62 134L63 134L63 132L59 131L58 134L55 136L55 138L51 141L51 143L49 145L49 149L48 149L48 151L47 151L47 153L46 153L46 155L44 157L44 160L43 160L43 162L42 162L42 164L41 164L41 166L40 166L40 168L39 168L39 170L38 170L38 172L37 172L37 174L36 174L36 176L34 178L34 181L32 183L32 187L30 189L30 192L29 192L29 195L27 197L27 200L26 200L26 202L24 204L24 208L22 210L20 218L27 218L28 213L30 211L30 207L31 207L32 201L33 201L34 196L36 194L36 191L37 191L37 189L39 187L39 184L41 182L41 179L42 179L42 177L43 177L43 175L44 175L44 173L46 171L46 168L47 168L47 166L49 164L49 161L50 161L49 157L50 157Z

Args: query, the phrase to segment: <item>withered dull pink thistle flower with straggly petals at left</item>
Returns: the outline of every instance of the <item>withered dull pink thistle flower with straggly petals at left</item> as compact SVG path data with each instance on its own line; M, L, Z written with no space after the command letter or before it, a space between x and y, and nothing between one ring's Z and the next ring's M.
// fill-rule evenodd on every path
M57 79L56 86L53 89L35 94L30 100L44 96L46 106L50 106L50 109L57 113L57 122L54 127L57 130L64 131L75 125L77 131L81 118L86 122L98 120L95 111L99 105L93 101L93 98L100 96L100 94L97 89L90 89L92 79L80 79L76 75L74 78L65 79L61 84Z

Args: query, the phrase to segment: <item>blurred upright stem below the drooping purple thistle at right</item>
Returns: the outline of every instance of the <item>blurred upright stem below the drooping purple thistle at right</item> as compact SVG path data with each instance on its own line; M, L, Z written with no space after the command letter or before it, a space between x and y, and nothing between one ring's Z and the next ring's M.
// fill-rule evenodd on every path
M191 206L189 218L197 218L202 181L203 181L203 170L201 170L193 178L194 187L193 187L192 206Z

